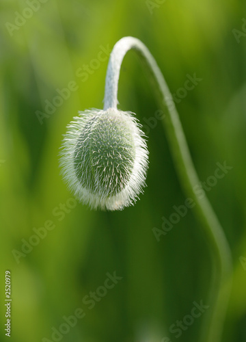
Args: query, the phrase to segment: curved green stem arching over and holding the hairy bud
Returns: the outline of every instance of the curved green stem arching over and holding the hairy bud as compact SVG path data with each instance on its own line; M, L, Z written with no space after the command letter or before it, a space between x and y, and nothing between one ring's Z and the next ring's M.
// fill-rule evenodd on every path
M109 107L117 108L120 66L124 55L131 49L137 52L141 61L147 67L150 80L154 82L153 88L156 90L159 105L165 113L165 116L163 116L163 125L167 133L167 139L169 140L169 146L180 183L186 196L193 198L195 201L195 213L208 237L208 246L213 257L214 272L208 298L209 303L206 303L209 304L210 308L206 313L206 317L204 317L201 341L219 342L221 340L223 322L232 283L232 257L230 247L223 233L223 228L219 224L219 220L206 194L204 196L197 196L194 192L195 187L200 184L200 181L191 160L187 141L172 95L169 92L167 83L154 57L147 47L137 38L122 38L115 44L111 52L109 66L107 68L104 109L108 109Z

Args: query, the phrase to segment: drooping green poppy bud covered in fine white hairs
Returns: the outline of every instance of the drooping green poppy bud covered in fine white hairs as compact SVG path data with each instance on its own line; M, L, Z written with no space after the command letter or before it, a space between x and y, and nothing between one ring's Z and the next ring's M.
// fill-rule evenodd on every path
M122 210L146 186L148 150L133 113L115 108L80 111L67 127L61 174L92 209Z

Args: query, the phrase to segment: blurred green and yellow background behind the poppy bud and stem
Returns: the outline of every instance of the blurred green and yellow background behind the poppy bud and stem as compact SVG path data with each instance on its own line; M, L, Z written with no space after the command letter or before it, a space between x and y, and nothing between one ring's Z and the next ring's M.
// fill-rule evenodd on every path
M207 195L234 258L223 342L246 341L245 4L1 1L0 341L8 339L3 332L6 269L12 280L13 342L168 341L165 337L191 342L199 337L202 317L178 339L169 332L191 313L194 301L208 304L212 261L192 210L159 242L152 232L186 198L161 123L148 130L148 187L134 207L90 211L71 200L59 174L66 125L78 110L102 108L108 56L101 53L104 61L98 62L98 53L111 50L123 36L147 45L173 94L183 94L187 75L202 79L176 106L200 179L213 175L218 162L232 166ZM89 71L82 74L86 65ZM57 100L47 114L47 101L70 82L75 86L68 98ZM134 53L124 59L118 98L120 109L134 111L142 124L159 109ZM33 229L49 226L49 220L55 228L40 241L31 238ZM30 238L36 246L28 247ZM108 272L122 279L90 309L83 299L104 284ZM85 317L52 337L53 328L59 330L64 316L77 308Z

